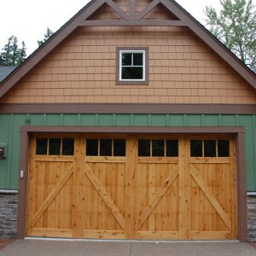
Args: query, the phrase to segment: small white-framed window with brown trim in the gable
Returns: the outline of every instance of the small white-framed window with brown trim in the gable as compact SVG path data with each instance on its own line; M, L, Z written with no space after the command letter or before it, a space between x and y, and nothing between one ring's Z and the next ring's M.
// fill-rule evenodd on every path
M118 49L118 84L147 84L147 49Z

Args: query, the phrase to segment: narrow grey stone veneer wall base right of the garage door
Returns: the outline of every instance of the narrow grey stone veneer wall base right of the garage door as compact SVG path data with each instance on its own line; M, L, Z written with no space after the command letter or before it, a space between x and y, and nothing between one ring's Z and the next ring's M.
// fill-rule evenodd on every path
M247 194L247 241L256 241L256 193Z

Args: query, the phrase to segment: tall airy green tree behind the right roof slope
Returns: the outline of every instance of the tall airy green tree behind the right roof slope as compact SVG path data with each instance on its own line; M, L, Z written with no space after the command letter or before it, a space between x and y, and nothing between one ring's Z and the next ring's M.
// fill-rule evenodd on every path
M207 27L248 67L256 66L256 11L253 0L220 0L221 9L206 7Z

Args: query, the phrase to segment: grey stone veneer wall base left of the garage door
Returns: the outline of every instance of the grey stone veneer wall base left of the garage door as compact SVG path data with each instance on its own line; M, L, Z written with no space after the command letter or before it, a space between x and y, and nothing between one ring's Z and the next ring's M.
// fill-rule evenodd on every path
M18 191L0 190L0 239L17 235Z

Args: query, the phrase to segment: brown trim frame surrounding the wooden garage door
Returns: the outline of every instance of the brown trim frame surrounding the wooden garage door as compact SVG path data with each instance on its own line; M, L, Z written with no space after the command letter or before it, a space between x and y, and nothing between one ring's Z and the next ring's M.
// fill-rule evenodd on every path
M233 134L236 136L236 193L238 239L247 241L247 195L245 128L241 126L55 126L23 125L20 127L20 170L24 177L19 178L17 237L26 237L27 185L29 166L29 139L32 133L130 133L130 134Z

